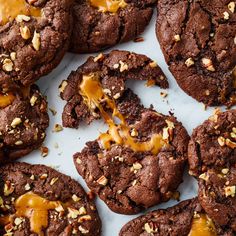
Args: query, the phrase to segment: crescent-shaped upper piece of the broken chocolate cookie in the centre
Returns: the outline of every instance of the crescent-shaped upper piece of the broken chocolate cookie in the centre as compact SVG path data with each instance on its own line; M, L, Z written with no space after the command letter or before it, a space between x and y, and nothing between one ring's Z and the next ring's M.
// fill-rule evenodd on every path
M91 75L96 75L106 95L115 100L124 93L125 81L128 79L146 80L149 85L168 88L168 82L162 70L144 55L127 51L112 51L110 54L90 57L60 85L61 97L67 101L62 115L63 126L77 128L81 120L90 123L101 117L94 105L91 107L90 104L88 107L79 90L83 77ZM92 86L97 87L98 83L95 82Z

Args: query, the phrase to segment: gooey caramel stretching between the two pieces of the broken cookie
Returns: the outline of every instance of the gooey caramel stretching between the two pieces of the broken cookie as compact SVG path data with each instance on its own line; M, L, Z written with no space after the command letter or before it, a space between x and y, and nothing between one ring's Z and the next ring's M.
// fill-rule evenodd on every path
M152 152L156 155L167 144L161 134L152 135L151 139L147 142L138 142L131 136L131 128L127 124L125 117L118 111L115 101L103 92L98 74L83 76L79 89L87 106L90 109L98 108L102 118L109 126L108 132L101 134L99 137L105 149L110 149L111 144L116 143L127 146L135 152ZM101 103L105 103L112 111L112 116L103 109ZM120 123L116 124L115 119L118 119Z

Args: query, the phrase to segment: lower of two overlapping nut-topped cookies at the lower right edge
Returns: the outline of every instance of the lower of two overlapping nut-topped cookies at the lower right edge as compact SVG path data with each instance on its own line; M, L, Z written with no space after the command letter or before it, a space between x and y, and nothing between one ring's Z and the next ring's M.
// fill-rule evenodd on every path
M236 234L236 164L199 176L199 201L214 222Z

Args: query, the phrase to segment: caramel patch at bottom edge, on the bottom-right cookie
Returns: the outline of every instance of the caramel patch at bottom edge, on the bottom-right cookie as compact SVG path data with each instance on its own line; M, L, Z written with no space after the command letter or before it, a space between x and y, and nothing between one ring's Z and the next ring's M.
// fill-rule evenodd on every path
M212 220L206 214L194 218L192 228L188 236L217 236Z

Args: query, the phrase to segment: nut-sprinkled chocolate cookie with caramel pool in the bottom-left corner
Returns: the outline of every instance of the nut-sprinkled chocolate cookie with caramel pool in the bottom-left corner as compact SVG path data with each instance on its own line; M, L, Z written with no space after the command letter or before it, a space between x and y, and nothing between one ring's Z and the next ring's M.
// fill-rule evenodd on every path
M43 165L0 168L1 235L99 236L96 206L78 182Z

